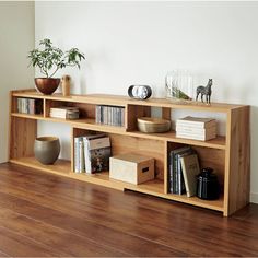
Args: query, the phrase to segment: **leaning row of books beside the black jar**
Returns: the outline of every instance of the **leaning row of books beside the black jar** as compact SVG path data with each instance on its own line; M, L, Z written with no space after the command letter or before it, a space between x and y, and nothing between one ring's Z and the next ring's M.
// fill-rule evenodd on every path
M169 192L187 197L196 195L197 175L200 166L197 153L190 146L183 146L169 152L168 161Z

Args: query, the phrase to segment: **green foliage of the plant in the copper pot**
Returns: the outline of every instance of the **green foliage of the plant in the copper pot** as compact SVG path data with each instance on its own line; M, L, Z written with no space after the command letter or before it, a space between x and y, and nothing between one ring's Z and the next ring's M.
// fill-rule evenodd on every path
M33 49L28 52L27 58L31 59L28 66L38 67L46 78L52 78L59 69L66 67L78 67L85 59L84 54L78 48L71 48L62 51L60 48L54 47L50 39L40 40L39 46L43 49Z

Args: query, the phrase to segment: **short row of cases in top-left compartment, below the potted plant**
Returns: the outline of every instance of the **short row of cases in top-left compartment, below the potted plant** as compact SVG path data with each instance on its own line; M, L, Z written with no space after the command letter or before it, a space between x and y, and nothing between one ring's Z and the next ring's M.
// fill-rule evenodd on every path
M19 97L17 113L31 114L31 115L42 114L43 103L40 99Z

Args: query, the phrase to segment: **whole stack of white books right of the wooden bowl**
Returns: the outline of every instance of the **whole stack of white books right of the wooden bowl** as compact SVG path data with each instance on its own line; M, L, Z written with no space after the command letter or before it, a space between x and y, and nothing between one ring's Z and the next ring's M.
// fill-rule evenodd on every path
M208 141L216 137L216 120L187 116L176 120L176 137Z

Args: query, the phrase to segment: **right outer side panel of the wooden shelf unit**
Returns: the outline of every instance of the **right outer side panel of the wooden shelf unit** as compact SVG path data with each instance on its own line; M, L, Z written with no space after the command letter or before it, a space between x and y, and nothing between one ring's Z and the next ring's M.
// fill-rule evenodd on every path
M250 128L249 107L231 113L228 130L228 197L227 213L232 214L249 202L250 192Z

